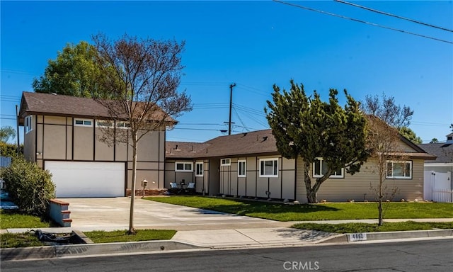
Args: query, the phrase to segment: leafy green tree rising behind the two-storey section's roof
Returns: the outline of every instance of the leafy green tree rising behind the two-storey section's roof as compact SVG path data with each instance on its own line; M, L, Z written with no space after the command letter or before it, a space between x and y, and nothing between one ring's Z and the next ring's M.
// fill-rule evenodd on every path
M104 74L96 65L97 57L96 47L88 42L68 44L57 53L56 60L49 60L44 74L33 80L33 89L37 93L92 97L103 88L100 81Z

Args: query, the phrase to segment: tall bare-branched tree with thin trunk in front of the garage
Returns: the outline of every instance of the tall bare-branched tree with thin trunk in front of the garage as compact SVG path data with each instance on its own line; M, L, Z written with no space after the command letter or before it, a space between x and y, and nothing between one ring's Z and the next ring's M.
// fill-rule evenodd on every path
M103 140L125 142L132 147L132 196L129 233L134 230L134 194L137 176L137 144L156 130L165 130L184 111L190 111L190 96L178 93L184 42L139 39L129 35L110 41L93 36L98 50L96 63L105 74L103 91L96 101L108 109L111 120L129 126L125 133L105 130ZM110 131L110 132L109 132Z

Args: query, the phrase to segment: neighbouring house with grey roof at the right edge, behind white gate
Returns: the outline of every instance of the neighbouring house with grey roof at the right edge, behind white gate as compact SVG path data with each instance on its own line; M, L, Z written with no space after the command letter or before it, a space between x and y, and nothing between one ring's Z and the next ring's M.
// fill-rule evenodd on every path
M439 202L453 202L453 132L446 142L421 144L419 147L437 156L425 162L425 198Z

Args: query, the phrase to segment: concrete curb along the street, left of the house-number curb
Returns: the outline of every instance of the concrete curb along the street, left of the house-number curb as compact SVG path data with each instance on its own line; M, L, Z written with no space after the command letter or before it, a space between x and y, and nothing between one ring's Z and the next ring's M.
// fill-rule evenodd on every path
M1 249L1 261L21 261L30 259L52 259L71 256L89 256L117 253L137 253L146 251L173 251L202 249L200 246L173 242L170 240L147 242L122 242L103 244L69 244L64 246L38 246L14 249Z

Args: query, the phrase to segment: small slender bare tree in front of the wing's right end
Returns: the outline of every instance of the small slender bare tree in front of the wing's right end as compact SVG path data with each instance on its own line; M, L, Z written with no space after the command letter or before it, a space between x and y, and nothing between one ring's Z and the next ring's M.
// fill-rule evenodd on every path
M377 198L378 225L384 224L384 207L383 202L392 198L398 188L388 188L386 186L386 177L388 168L391 166L403 166L405 159L404 151L400 145L400 130L405 131L411 123L413 111L407 106L397 106L394 97L382 96L382 101L378 96L366 96L363 103L362 111L368 115L367 130L367 149L371 152L371 158L374 159L374 168L379 176L377 188L373 188ZM414 133L415 134L415 133ZM393 161L389 165L389 161Z

